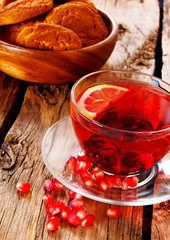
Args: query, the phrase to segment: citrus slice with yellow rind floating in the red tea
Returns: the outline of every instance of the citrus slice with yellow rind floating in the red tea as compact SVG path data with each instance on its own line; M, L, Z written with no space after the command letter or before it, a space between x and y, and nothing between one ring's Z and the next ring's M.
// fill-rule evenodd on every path
M78 101L78 106L87 116L95 118L106 111L109 105L120 99L127 88L112 84L101 84L87 88Z

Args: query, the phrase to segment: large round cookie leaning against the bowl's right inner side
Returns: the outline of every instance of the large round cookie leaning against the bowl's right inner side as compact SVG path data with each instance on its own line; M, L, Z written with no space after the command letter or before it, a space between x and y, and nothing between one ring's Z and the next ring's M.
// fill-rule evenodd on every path
M96 44L108 36L100 14L83 2L67 2L54 7L45 22L71 29L78 35L83 47Z

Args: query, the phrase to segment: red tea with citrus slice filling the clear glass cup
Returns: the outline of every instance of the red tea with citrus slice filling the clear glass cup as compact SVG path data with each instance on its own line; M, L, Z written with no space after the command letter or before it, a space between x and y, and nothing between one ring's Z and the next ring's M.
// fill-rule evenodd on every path
M103 83L71 102L73 127L90 160L121 175L151 168L170 150L170 94L139 81ZM162 131L160 131L162 130Z

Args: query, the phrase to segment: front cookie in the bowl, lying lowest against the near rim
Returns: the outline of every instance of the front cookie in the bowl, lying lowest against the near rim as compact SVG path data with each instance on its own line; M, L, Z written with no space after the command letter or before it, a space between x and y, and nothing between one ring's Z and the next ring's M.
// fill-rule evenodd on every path
M59 25L36 23L25 27L17 36L20 46L46 50L74 50L82 47L78 36Z

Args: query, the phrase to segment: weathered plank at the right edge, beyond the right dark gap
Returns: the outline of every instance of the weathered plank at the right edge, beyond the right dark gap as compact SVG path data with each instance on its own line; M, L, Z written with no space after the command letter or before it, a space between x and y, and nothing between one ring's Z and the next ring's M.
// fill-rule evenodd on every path
M170 2L163 1L162 78L170 83ZM160 179L164 181L164 179ZM168 240L170 233L170 201L153 206L152 240Z

